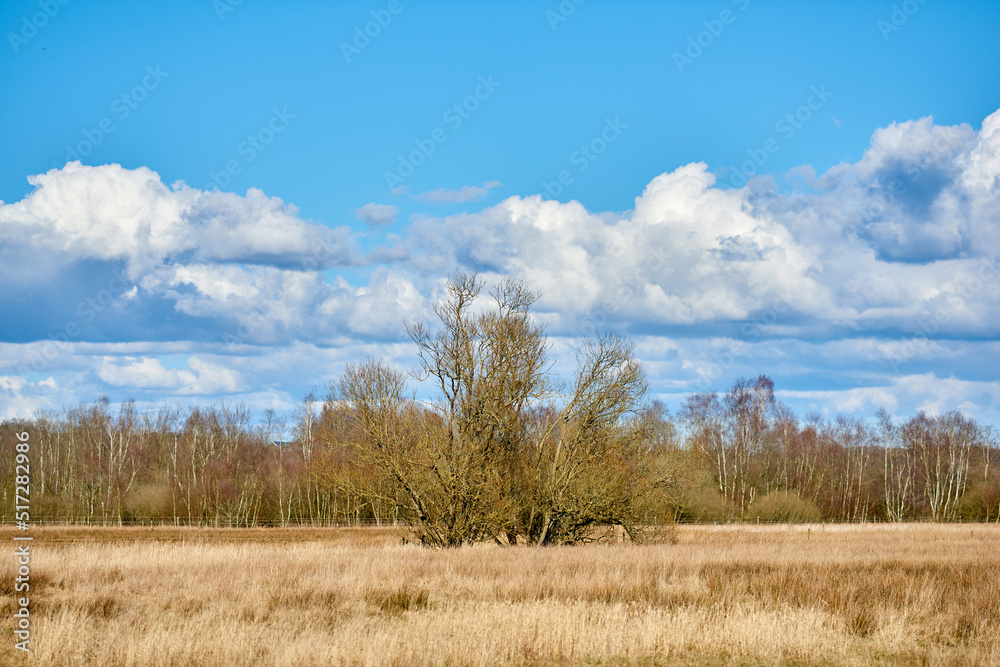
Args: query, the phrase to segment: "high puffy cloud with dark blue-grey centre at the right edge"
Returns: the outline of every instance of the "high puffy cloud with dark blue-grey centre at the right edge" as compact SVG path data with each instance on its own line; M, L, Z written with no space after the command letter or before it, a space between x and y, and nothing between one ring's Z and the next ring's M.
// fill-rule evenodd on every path
M760 198L777 215L822 221L855 235L881 260L926 264L989 252L1000 241L991 222L1000 190L1000 112L976 132L931 117L894 123L872 135L854 164L830 169L815 193Z

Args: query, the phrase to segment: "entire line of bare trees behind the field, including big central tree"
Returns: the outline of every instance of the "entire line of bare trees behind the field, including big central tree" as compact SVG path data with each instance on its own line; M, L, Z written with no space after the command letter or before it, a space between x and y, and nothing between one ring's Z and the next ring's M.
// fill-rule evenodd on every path
M432 545L638 540L671 521L1000 521L996 434L960 413L803 421L762 375L671 415L646 401L627 339L585 341L563 382L537 293L506 280L483 307L483 290L458 276L437 325L409 328L430 401L368 359L287 421L102 398L0 424L0 516L15 519L27 432L34 520L405 521Z

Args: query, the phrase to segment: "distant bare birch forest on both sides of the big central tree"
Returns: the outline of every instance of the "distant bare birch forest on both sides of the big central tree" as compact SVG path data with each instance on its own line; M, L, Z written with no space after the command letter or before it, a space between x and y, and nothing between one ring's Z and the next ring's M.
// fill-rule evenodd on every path
M545 407L536 407L541 418ZM957 412L798 419L761 376L638 415L657 516L676 521L1000 521L996 434ZM217 526L405 520L363 483L357 420L307 397L288 423L243 405L146 412L106 398L0 424L2 516L15 434L30 434L33 521ZM276 442L283 432L293 434Z

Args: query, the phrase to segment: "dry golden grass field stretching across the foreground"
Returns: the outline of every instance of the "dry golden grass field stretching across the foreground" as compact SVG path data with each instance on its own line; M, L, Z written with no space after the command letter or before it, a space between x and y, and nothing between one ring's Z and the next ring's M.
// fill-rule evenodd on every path
M30 662L1000 664L1000 526L675 538L430 550L375 528L45 528ZM14 560L0 562L7 628ZM27 664L3 634L0 662Z

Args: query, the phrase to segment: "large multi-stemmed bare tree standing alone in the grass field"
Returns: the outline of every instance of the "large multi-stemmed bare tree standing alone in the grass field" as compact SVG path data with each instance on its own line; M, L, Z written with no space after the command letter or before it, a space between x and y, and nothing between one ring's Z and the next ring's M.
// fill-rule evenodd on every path
M633 418L646 383L631 343L605 335L583 346L561 409L548 373L543 329L530 315L538 295L505 280L492 308L477 309L474 275L449 283L435 309L440 328L408 328L421 377L437 399L406 396L403 374L382 361L349 365L328 404L346 406L359 427L367 492L393 501L417 537L453 546L576 542L596 526L639 536L645 432Z

